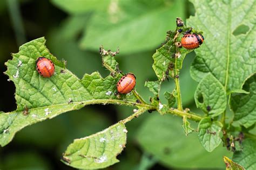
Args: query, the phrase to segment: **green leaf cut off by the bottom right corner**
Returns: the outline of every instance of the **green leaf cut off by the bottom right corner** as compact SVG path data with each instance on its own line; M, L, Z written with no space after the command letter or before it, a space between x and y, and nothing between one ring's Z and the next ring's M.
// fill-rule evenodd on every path
M245 139L242 141L242 151L235 152L233 161L244 167L246 170L256 169L256 140Z

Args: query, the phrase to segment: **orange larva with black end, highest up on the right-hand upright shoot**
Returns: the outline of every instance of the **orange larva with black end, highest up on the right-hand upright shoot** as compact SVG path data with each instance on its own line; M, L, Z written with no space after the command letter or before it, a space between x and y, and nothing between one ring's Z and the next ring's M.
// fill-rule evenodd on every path
M181 38L181 44L185 49L196 49L204 42L200 34L186 34Z

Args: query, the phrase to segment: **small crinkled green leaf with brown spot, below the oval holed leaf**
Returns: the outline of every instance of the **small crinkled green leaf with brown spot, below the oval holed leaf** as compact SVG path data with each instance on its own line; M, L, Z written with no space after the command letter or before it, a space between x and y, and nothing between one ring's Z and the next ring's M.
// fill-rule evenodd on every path
M219 121L213 121L211 118L203 118L199 124L199 141L206 151L212 152L221 143L220 132L222 124Z

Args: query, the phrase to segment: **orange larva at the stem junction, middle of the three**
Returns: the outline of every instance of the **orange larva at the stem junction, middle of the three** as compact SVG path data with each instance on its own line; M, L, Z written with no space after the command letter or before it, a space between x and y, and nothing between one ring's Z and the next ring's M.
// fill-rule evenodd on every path
M132 73L125 74L117 83L117 91L121 94L130 93L136 85L136 77Z

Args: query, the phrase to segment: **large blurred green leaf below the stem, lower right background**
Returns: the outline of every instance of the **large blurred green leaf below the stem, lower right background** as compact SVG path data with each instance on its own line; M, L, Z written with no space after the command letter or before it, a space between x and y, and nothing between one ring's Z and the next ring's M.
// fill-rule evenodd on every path
M144 151L172 169L223 169L223 155L232 157L232 153L222 146L208 153L196 133L184 135L181 123L178 117L153 114L140 126L137 140Z

